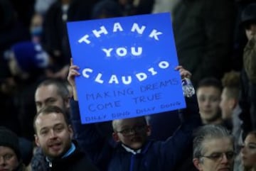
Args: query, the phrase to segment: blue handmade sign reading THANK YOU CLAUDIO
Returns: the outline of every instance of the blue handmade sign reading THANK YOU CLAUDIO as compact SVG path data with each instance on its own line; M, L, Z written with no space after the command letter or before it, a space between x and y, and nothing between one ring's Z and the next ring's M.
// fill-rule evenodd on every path
M82 123L186 107L170 13L68 23Z

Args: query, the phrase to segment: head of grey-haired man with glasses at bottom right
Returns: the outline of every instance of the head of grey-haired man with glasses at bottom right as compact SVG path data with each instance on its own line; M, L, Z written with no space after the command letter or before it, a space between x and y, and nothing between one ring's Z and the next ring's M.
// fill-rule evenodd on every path
M234 140L223 126L205 125L193 139L193 163L200 171L233 171Z

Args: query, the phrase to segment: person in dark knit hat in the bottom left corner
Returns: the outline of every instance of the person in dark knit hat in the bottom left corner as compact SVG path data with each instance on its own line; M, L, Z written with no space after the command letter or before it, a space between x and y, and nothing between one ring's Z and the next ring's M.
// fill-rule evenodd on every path
M26 171L18 145L18 136L5 127L0 127L0 170Z

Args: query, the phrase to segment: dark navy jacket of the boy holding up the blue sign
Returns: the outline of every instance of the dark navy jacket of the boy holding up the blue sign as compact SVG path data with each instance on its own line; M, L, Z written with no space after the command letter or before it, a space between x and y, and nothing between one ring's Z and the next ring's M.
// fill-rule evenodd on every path
M71 121L75 138L90 158L105 171L171 171L192 141L192 131L201 125L196 96L186 99L187 108L181 111L181 126L166 141L148 140L142 153L128 153L121 144L113 145L97 133L95 124L80 123L78 102L71 101Z

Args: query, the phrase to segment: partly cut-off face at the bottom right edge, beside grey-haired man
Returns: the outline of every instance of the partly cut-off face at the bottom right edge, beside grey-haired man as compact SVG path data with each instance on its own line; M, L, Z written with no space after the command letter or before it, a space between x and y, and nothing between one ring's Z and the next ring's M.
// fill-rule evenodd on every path
M248 134L241 149L242 165L256 168L256 133Z

